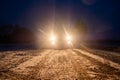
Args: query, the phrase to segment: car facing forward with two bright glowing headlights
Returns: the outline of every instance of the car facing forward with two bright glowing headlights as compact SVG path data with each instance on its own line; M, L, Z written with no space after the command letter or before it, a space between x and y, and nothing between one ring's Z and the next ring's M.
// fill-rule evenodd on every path
M72 48L72 41L70 33L68 34L64 31L52 32L49 36L50 46L54 49Z

